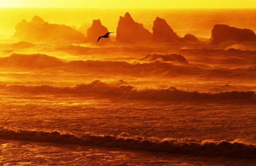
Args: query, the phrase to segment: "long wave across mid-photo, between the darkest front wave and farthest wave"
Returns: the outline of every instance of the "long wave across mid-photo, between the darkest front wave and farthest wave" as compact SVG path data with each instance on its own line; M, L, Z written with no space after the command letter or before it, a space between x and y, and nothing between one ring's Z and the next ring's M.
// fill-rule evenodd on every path
M74 87L53 87L49 85L25 86L25 85L2 85L3 91L14 93L35 94L82 94L84 96L121 97L127 99L156 99L156 100L246 100L256 102L256 93L253 91L228 91L219 93L199 93L197 91L183 91L175 87L167 89L136 89L130 85L106 84L95 80L89 84L78 84Z

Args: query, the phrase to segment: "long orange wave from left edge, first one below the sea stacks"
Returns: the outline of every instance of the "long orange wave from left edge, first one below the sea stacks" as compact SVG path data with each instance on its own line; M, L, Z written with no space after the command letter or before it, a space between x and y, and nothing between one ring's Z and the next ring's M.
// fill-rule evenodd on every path
M145 58L145 57L144 57ZM173 56L174 58L174 56ZM176 61L186 63L186 59L181 55L175 55ZM179 64L181 64L179 63ZM152 61L145 63L129 63L126 61L100 61L100 60L75 60L65 62L56 57L47 56L44 54L17 54L12 53L9 57L0 58L0 66L10 68L23 69L42 69L49 68L54 70L61 70L65 72L85 72L85 73L104 73L104 74L124 74L145 76L146 74L153 76L169 75L180 76L180 74L191 74L189 66L173 65L172 63ZM197 68L195 69L197 70ZM194 74L200 74L194 71Z

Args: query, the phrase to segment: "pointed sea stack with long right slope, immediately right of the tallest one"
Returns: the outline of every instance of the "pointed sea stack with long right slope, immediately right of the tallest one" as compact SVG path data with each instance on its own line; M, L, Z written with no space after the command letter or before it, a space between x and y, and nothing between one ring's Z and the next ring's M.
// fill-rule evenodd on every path
M172 30L166 20L157 17L153 25L152 42L174 42L182 39Z

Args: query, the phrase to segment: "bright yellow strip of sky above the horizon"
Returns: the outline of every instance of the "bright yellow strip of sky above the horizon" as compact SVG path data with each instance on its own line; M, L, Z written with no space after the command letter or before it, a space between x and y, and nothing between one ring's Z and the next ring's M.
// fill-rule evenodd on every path
M255 0L0 0L0 7L256 8Z

